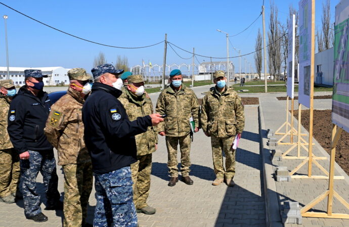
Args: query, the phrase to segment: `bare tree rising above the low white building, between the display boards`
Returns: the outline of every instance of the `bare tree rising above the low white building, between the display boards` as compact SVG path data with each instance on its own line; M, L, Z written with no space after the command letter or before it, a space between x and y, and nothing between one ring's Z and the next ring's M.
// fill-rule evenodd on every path
M322 41L324 50L331 48L331 39L333 37L333 31L331 30L331 12L330 12L330 0L325 0L325 4L322 3ZM319 51L320 52L320 51Z

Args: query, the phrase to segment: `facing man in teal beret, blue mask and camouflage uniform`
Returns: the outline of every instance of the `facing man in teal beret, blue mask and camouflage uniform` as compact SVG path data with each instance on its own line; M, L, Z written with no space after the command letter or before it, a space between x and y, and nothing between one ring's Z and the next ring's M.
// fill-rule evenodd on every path
M167 167L171 177L168 186L174 186L178 182L178 143L181 149L182 180L192 185L193 181L189 177L191 165L190 118L193 117L195 122L194 132L199 131L199 104L194 91L182 83L180 70L172 70L169 76L171 84L161 92L156 104L156 112L165 115L165 121L159 124L158 132L161 136L166 136Z

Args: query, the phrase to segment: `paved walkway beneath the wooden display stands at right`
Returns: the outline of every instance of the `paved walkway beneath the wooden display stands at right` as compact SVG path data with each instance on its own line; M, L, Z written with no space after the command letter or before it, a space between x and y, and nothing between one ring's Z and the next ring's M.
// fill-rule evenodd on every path
M278 101L276 96L279 95L265 95L260 97L261 107L263 109L263 115L265 120L266 129L277 130L285 121L286 101ZM296 105L297 106L297 105ZM331 109L331 99L315 99L314 107L317 109ZM304 107L302 106L302 109ZM294 127L297 128L298 122L294 119ZM330 123L329 123L330 124ZM264 131L265 132L265 131ZM302 127L302 133L307 133L307 130ZM281 136L276 136L278 139ZM304 137L308 141L308 137ZM289 142L289 140L284 140ZM329 155L327 152L318 144L315 140L315 146L313 146L313 153L316 156L328 157L327 160L318 160L318 162L324 166L328 171L329 169ZM279 145L277 148L282 152L285 152L290 146ZM289 153L292 156L296 155L296 149ZM308 153L301 149L301 155L306 156ZM300 159L283 159L282 161L273 161L273 169L276 166L287 166L289 171L295 168L302 160ZM307 175L308 165L304 165L297 171L297 175ZM273 173L266 173L266 176L270 176ZM313 175L324 175L320 169L313 164ZM345 180L335 180L334 189L342 196L346 201L349 201L349 178L342 171L342 169L336 165L335 168L336 176L345 176ZM279 205L283 204L284 201L296 201L299 202L301 207L307 205L314 198L322 194L328 189L328 180L314 180L314 179L292 179L291 182L275 182L276 194L278 197ZM268 189L269 190L269 189ZM327 199L319 203L310 211L325 211L327 207ZM333 212L349 213L342 204L337 200L333 203ZM333 219L333 218L302 218L302 225L286 224L285 226L349 226L349 220L345 219Z

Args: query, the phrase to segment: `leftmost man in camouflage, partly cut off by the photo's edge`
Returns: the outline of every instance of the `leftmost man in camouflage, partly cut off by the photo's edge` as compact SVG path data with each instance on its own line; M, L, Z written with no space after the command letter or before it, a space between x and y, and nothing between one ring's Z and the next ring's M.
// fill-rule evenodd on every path
M7 113L16 94L12 80L0 81L0 201L14 203L19 184L18 153L7 133Z

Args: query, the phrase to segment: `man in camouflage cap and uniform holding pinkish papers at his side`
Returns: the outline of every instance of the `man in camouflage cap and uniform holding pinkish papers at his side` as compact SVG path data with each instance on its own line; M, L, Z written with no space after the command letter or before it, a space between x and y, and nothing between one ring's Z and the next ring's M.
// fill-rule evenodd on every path
M224 178L228 186L234 186L235 150L232 143L235 136L241 137L245 125L244 106L233 88L226 87L223 71L213 74L215 87L202 99L201 127L205 135L211 137L212 159L216 179L212 185L220 185ZM226 169L223 155L226 155Z

